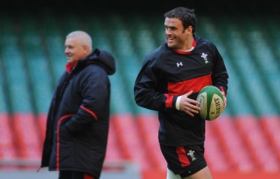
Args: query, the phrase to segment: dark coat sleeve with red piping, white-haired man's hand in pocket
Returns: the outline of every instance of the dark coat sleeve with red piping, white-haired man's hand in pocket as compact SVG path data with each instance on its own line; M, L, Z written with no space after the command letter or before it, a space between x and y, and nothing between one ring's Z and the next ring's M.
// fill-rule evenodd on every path
M94 65L83 73L80 81L80 108L71 120L66 122L66 130L71 134L83 132L92 122L109 116L110 85L106 71Z

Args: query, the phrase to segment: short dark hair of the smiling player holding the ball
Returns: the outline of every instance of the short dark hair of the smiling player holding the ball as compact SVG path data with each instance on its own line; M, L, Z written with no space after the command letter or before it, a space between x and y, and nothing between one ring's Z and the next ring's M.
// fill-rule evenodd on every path
M185 7L177 7L174 8L165 15L163 15L165 18L177 18L181 20L183 27L187 29L189 26L193 27L193 33L195 33L195 28L197 27L197 17L195 16L195 10L194 9L188 9Z

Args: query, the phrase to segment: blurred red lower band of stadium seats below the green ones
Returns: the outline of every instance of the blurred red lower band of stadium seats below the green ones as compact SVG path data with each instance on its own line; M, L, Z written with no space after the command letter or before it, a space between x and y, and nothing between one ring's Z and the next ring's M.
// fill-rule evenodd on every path
M0 161L41 161L45 115L0 114ZM165 170L157 115L112 115L106 162L136 162L141 171ZM221 115L207 122L205 157L213 171L279 171L280 117ZM17 163L18 162L18 163ZM1 165L3 167L3 165Z

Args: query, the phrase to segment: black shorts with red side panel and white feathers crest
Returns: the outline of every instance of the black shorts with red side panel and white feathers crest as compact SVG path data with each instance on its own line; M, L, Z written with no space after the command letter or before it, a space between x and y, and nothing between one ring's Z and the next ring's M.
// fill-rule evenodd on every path
M203 144L179 147L160 145L160 149L167 161L167 168L181 178L191 176L207 166Z

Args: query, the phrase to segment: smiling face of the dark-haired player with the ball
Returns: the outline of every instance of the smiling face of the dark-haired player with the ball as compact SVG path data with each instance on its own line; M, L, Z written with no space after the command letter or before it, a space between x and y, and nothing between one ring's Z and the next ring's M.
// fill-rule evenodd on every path
M174 49L190 48L188 39L191 34L191 27L184 29L181 20L177 18L165 18L165 35L167 36L168 47ZM191 35L191 37L193 37Z

